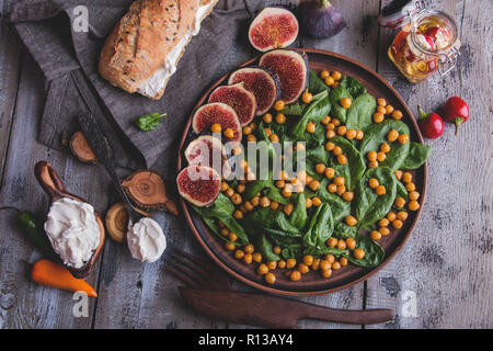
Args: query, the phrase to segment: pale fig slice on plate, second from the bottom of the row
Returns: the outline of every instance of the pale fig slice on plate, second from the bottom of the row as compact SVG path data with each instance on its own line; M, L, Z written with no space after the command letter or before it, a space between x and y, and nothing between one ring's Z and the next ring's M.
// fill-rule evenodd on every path
M199 136L190 143L185 149L185 158L191 166L211 167L223 178L231 173L225 146L211 135Z

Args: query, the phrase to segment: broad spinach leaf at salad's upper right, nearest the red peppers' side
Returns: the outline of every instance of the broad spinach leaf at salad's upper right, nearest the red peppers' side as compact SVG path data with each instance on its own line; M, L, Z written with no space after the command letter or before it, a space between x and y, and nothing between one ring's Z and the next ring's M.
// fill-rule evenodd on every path
M398 131L399 134L410 135L408 125L401 121L387 120L379 124L372 124L365 131L365 137L359 146L359 151L363 157L366 157L369 151L378 152L381 144L389 144L390 152L387 154L387 159L385 161L379 162L379 166L395 171L408 157L410 143L401 144L398 140L393 143L388 141L387 135L392 129Z

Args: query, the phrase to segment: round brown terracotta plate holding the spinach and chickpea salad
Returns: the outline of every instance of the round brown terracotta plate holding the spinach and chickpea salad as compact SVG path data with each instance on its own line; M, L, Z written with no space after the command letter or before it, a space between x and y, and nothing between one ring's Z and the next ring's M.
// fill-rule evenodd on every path
M370 68L362 65L348 57L324 52L318 49L300 49L307 53L309 58L309 68L316 71L320 71L322 69L328 69L330 71L339 70L343 75L351 75L357 78L368 90L370 94L376 98L383 97L387 99L388 103L390 103L395 109L401 110L404 113L403 122L406 123L411 128L411 139L415 141L423 143L423 138L421 136L420 129L415 122L415 118L399 95L399 93L377 72L371 70ZM259 57L255 57L240 67L249 66L252 64L256 64ZM210 89L204 94L204 97L198 101L194 111L203 105L209 93L218 86L225 84L227 82L227 78L229 73L219 79ZM186 145L191 141L191 123L192 116L185 127L183 133L183 137L180 144L179 150L179 162L177 169L181 170L186 166L186 160L183 157L183 150ZM404 226L400 230L391 230L391 234L387 237L383 237L379 244L383 247L386 251L385 261L375 269L364 269L355 265L347 265L341 269L340 271L333 271L333 274L330 279L323 279L317 272L310 272L308 274L303 274L301 281L291 282L283 274L285 270L276 270L276 283L274 285L266 284L263 276L255 273L255 268L257 264L245 264L242 261L238 261L232 257L232 253L227 251L223 248L223 241L216 237L215 234L210 233L204 222L200 219L197 214L188 207L185 201L181 201L183 212L185 214L186 220L192 228L195 237L202 247L206 250L206 252L213 258L213 260L218 263L223 270L226 270L229 274L237 278L238 280L246 283L256 288L276 293L282 295L290 295L290 296L307 296L307 295L320 295L333 293L336 291L341 291L347 287L355 285L364 280L367 280L372 274L375 274L378 270L380 270L385 264L387 264L395 253L402 248L404 242L410 237L417 218L420 217L421 210L423 208L423 203L426 193L426 176L427 168L426 163L419 169L417 171L413 171L413 181L416 184L417 191L421 193L421 208L417 212L410 212L409 218L404 222Z

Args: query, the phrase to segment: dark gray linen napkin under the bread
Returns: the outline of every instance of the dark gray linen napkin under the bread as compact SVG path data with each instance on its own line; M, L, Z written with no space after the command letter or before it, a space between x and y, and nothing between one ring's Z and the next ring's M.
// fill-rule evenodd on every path
M38 139L60 148L60 134L77 129L77 115L90 111L113 139L121 165L140 159L151 167L159 157L174 158L175 141L197 99L211 83L217 69L248 21L270 1L221 0L188 44L164 97L151 101L114 88L98 73L105 37L126 13L131 0L27 0L12 5L10 21L39 65L47 81L47 101ZM294 1L275 1L293 3ZM295 1L296 2L296 1ZM77 32L72 23L83 5L89 32ZM168 113L158 128L140 132L134 121L147 113ZM119 141L119 143L118 143ZM129 141L129 143L128 143ZM141 157L138 157L141 156Z

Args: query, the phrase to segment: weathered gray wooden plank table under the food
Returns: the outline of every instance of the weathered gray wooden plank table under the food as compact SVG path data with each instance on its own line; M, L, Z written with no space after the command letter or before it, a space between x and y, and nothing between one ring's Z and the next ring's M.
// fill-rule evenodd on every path
M414 86L387 58L393 33L380 30L377 15L383 0L333 1L348 27L329 44L301 38L299 45L355 58L377 70L397 88L414 111L421 103L432 111L448 97L469 102L470 121L458 137L452 125L437 140L428 160L428 195L421 219L402 251L377 275L346 291L303 298L337 308L390 307L395 318L366 328L492 328L492 18L490 0L436 0L433 8L457 19L462 39L458 67L445 79ZM9 1L0 0L7 12ZM251 57L238 48L221 71ZM38 160L48 160L67 188L104 213L111 204L108 178L100 167L80 163L67 152L36 143L44 105L43 77L15 35L0 29L0 204L47 211L47 197L33 176ZM204 87L206 88L206 87ZM172 165L160 160L168 174ZM160 222L169 226L167 214ZM184 223L170 228L188 250L202 254ZM139 264L124 246L106 240L104 253L89 282L100 297L91 299L87 317L74 317L72 294L43 287L28 279L32 246L0 215L0 328L244 328L196 315L182 301L175 279L162 264ZM249 291L237 283L238 288ZM302 321L301 328L362 328Z

